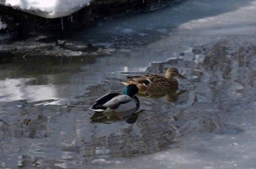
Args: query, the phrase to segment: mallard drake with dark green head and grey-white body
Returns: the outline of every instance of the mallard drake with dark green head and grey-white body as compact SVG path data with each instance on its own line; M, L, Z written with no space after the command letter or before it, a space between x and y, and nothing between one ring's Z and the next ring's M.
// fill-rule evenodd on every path
M134 113L139 109L139 99L135 96L139 89L135 84L128 85L123 94L108 93L95 100L90 110L104 114L108 118L122 119L123 114Z

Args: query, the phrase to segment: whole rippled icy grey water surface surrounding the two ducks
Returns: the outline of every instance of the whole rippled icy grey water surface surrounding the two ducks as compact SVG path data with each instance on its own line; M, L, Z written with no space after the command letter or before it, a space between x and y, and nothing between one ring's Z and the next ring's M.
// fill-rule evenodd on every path
M255 9L187 0L99 23L65 46L0 37L0 167L255 169ZM133 124L91 123L93 100L168 67L187 77L180 95L139 97Z

